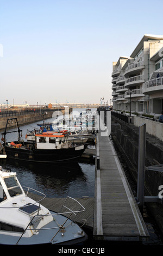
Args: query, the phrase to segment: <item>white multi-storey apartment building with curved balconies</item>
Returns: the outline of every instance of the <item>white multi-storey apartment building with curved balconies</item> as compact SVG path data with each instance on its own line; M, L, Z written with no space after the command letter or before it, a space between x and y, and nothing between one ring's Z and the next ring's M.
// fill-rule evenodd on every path
M163 35L145 34L130 57L112 63L113 109L160 115L163 109Z

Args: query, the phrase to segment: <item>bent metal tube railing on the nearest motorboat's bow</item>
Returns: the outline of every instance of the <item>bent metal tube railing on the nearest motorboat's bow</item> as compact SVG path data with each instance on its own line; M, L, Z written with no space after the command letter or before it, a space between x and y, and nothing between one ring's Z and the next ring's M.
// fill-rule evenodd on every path
M75 210L71 210L68 206L66 206L66 202L67 202L67 200L68 199L71 199L71 200L73 200L73 202L75 202L75 203L78 203L78 205L80 206L80 208L77 210L77 209L75 209ZM72 203L72 205L74 206L74 203ZM67 209L67 211L63 211L63 212L61 212L61 210L62 210L62 208L65 208L65 209ZM57 229L57 232L54 234L54 236L52 237L52 239L50 240L50 242L52 242L53 241L53 239L54 239L54 237L59 233L59 231L64 227L64 225L65 225L65 223L70 219L70 217L72 216L72 215L74 215L74 218L76 218L76 216L77 216L77 214L79 214L79 212L83 212L83 211L85 211L85 208L84 208L84 206L82 205L82 204L80 204L76 199L74 199L74 198L72 198L72 197L67 197L66 199L65 199L65 202L64 202L64 204L61 206L61 209L60 209L60 211L57 213L57 212L55 212L54 214L45 214L45 215L43 215L43 214L36 214L36 215L34 215L33 216L33 218L32 218L32 220L30 220L30 222L29 222L29 224L27 225L27 227L26 227L26 229L24 229L24 231L23 231L23 233L22 233L22 235L19 237L19 239L18 239L18 241L17 241L17 243L16 243L16 245L18 244L18 242L21 240L21 238L22 238L22 236L24 235L24 233L26 232L26 230L37 230L37 231L39 231L39 230L48 230L48 229ZM36 221L38 220L38 217L40 217L40 218L43 218L44 216L53 216L53 218L54 218L54 216L57 216L57 215L64 215L65 217L66 217L66 220L64 221L64 223L62 223L62 224L58 224L57 223L57 227L51 227L51 228L29 228L29 225L32 223L32 222L34 222L34 218L36 218ZM66 216L66 215L68 215L68 216ZM71 222L70 222L70 224L72 225L72 223L74 223L74 218L72 219L71 218ZM55 218L54 218L55 219Z

